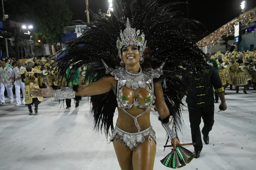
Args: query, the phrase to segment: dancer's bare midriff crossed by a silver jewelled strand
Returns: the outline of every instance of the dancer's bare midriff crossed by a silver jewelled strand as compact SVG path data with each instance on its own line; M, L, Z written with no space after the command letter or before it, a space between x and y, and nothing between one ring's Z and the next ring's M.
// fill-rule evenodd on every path
M126 132L130 132L130 133L136 133L138 132L138 129L134 123L134 119L131 118L130 116L128 116L127 114L125 114L124 111L122 111L121 108L117 108L118 110L118 118L116 121L116 125L121 128L122 130L125 130ZM139 109L136 107L133 107L129 110L127 110L128 113L130 113L131 115L137 116L140 113L142 113L143 111L145 111L145 109ZM148 127L150 127L150 111L151 109L149 109L145 114L143 114L142 116L138 117L138 123L140 125L140 131L147 129Z

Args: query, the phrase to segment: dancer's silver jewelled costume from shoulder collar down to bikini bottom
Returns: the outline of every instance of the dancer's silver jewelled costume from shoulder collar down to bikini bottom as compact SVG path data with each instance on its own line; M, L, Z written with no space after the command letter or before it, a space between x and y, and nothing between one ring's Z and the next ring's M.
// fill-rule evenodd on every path
M153 127L150 126L145 130L141 130L137 118L144 115L150 108L153 107L156 99L154 96L153 79L159 78L163 74L162 69L165 63L163 63L160 68L157 68L155 70L148 69L142 71L142 69L140 68L139 73L134 73L126 70L125 68L109 68L104 61L102 62L106 68L106 74L111 74L117 80L116 100L118 107L121 108L125 112L125 114L134 119L134 123L138 129L137 133L129 133L116 126L113 130L110 141L113 141L114 139L118 141L120 136L120 141L122 142L122 144L127 145L127 147L129 147L131 150L134 150L134 148L137 147L138 144L145 142L145 136L148 136L147 140L149 142L151 142L152 139L156 141ZM139 88L144 88L150 94L150 96L147 96L145 98L145 104L140 103L138 99L133 99L133 103L129 103L128 96L123 94L124 86L127 88L132 88L134 91L137 91ZM133 106L145 108L145 111L137 116L131 115L130 113L128 113L127 110L132 108Z

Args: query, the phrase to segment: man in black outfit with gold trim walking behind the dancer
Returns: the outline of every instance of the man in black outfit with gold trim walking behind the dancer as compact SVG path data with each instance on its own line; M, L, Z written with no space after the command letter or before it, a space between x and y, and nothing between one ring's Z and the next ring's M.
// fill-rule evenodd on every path
M190 72L186 72L182 79L188 85L186 103L189 109L192 142L195 143L195 158L199 158L203 148L199 127L201 118L204 120L204 127L202 129L204 143L209 144L209 132L212 130L214 123L213 88L215 89L215 94L221 99L221 110L225 111L227 105L224 87L221 84L218 71L212 65L209 65L209 69L205 70L205 79L208 79L207 82L209 82L208 86L201 80L201 77L195 78Z

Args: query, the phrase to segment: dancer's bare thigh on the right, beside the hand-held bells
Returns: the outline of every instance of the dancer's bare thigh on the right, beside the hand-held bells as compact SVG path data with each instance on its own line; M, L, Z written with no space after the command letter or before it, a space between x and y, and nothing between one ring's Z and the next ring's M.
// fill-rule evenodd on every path
M154 139L148 142L148 136L145 136L145 139L145 142L135 147L132 152L132 165L134 170L153 170L156 155L156 142Z

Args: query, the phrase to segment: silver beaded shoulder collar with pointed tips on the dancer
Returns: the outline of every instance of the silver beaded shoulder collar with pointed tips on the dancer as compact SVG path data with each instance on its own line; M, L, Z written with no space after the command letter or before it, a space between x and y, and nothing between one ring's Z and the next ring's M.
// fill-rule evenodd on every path
M142 69L140 69L140 73L134 73L123 67L116 69L109 68L103 59L102 62L106 68L106 74L111 74L116 80L119 80L119 85L125 85L127 88L132 88L135 91L138 88L145 88L146 84L153 83L154 78L159 78L163 75L163 66L166 63L163 62L157 69L148 69L146 71L142 71Z

